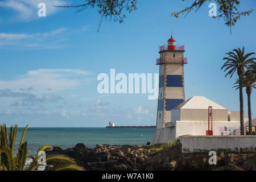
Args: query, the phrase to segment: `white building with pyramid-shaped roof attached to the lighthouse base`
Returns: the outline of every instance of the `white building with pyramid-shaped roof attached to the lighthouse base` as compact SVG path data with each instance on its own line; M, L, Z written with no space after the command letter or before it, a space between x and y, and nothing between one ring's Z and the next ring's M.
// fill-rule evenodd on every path
M173 142L183 135L206 135L208 130L208 106L212 106L213 135L240 135L240 112L225 107L203 96L193 96L171 110L171 121L156 128L152 144ZM245 119L245 129L248 119ZM256 126L256 118L253 119ZM255 128L254 128L255 130Z

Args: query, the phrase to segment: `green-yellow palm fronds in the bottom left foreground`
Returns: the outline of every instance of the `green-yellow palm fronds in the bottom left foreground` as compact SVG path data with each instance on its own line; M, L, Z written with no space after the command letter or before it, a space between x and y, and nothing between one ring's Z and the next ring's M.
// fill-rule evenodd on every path
M28 125L22 133L18 151L14 156L17 125L11 126L10 131L4 124L0 126L0 171L36 171L40 166L38 161L42 151L51 150L51 146L45 144L39 148L35 157L31 156L27 150L27 142L23 143L27 129ZM26 166L25 163L28 158L32 158L32 162ZM54 162L53 167L49 168L50 170L84 170L84 168L75 163L75 160L65 155L48 155L44 162Z

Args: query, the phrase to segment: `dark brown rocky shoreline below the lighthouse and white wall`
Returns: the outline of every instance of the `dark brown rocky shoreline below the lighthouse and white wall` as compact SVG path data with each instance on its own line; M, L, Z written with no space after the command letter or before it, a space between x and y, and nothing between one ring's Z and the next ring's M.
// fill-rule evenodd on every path
M208 154L183 154L181 144L168 151L151 149L149 146L97 144L96 148L82 143L63 150L53 147L47 154L63 154L76 160L88 171L156 171L156 170L256 170L255 164L248 162L253 154L222 154L217 156L217 165L210 165Z

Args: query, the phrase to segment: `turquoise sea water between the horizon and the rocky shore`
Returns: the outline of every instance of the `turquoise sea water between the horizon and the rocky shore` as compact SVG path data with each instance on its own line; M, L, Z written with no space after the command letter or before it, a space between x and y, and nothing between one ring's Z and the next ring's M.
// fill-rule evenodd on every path
M18 128L15 146L19 144L23 128ZM63 149L84 143L86 147L100 144L142 145L151 142L155 129L106 129L106 128L28 128L24 141L28 150L35 155L43 144ZM15 147L15 149L16 149Z

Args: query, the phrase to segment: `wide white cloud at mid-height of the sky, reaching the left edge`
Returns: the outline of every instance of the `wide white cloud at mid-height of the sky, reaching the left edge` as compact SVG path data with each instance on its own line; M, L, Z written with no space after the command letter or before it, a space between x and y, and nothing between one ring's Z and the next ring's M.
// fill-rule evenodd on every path
M38 69L28 71L15 80L0 80L0 89L18 92L20 88L34 88L31 93L45 94L88 84L84 76L91 73L78 69ZM80 79L81 77L81 79Z

